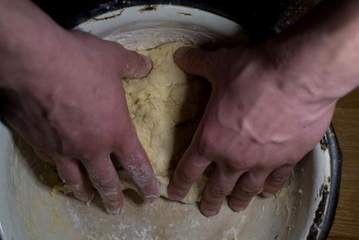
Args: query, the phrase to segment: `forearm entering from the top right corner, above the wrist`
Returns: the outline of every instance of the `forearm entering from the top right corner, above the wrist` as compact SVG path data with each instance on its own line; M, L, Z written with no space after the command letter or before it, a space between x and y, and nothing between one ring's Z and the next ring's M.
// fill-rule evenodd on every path
M303 89L298 92L308 101L336 101L359 85L358 12L359 1L325 0L265 44L278 56L289 91Z

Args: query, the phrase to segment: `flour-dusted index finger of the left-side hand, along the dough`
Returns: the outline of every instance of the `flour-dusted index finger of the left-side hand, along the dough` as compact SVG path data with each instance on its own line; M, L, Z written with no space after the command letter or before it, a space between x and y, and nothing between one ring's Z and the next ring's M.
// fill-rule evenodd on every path
M149 158L138 140L131 147L114 152L119 163L131 176L143 200L154 202L160 195L158 182Z

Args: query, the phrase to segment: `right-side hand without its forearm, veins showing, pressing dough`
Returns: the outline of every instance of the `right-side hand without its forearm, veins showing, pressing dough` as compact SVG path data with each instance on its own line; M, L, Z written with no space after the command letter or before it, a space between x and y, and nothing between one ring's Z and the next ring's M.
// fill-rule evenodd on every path
M308 97L311 89L299 78L310 80L311 73L269 53L256 46L177 50L177 64L206 77L213 90L169 184L171 198L185 197L215 163L201 198L203 215L216 215L227 195L232 210L243 211L254 195L262 191L269 197L281 189L295 164L320 141L336 100Z

